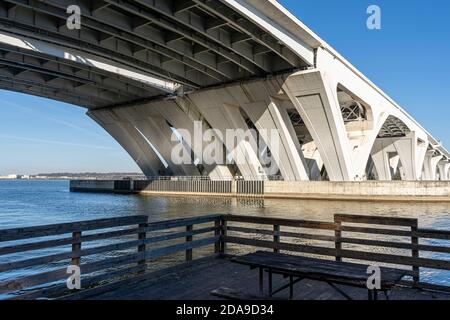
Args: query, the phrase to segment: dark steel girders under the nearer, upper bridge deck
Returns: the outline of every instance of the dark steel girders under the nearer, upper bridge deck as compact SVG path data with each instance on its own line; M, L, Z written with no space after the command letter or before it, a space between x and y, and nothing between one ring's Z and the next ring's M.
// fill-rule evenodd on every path
M82 28L75 31L65 26L66 8L73 4L82 12ZM197 1L178 10L181 5L169 0L5 0L0 26L153 73L183 85L183 92L308 66L223 4Z

